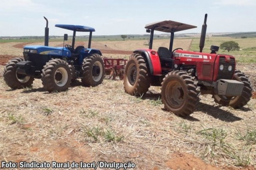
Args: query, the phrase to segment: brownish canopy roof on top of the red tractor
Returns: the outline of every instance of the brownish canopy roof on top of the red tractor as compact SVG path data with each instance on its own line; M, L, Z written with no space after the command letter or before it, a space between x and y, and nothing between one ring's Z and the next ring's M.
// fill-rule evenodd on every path
M168 20L146 24L145 28L161 32L177 32L196 28L196 26Z

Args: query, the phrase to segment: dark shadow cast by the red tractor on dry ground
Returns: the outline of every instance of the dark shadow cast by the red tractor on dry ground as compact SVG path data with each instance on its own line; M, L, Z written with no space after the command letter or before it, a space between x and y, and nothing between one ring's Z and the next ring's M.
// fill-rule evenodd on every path
M140 96L138 96L140 97ZM142 100L160 100L161 99L161 94L159 93L146 93L144 94L142 97L140 97ZM206 103L199 103L197 111L200 111L202 113L205 113L209 116L212 116L215 119L219 119L221 121L226 121L226 122L234 122L234 121L240 121L242 120L242 118L239 118L237 116L235 116L234 114L232 114L229 111L225 111L222 110L220 107L222 107L221 105L218 106L213 106L213 105L209 105ZM163 111L167 111L165 108L162 108ZM241 108L241 111L250 111L250 109L248 108ZM183 119L186 119L188 121L200 121L197 118L194 118L192 116L187 116L187 117L182 117Z

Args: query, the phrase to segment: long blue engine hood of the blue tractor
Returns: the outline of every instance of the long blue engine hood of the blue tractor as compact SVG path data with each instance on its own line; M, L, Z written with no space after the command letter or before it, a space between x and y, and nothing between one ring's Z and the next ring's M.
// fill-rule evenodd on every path
M71 57L71 51L63 47L25 46L24 52Z

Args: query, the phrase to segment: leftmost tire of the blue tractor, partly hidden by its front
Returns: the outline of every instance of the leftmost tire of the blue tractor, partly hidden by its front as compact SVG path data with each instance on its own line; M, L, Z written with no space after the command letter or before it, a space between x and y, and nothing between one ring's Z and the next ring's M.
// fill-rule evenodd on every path
M8 61L4 68L3 78L6 84L12 89L21 89L31 86L35 80L33 76L25 76L17 73L17 63L24 61L23 58L17 57Z

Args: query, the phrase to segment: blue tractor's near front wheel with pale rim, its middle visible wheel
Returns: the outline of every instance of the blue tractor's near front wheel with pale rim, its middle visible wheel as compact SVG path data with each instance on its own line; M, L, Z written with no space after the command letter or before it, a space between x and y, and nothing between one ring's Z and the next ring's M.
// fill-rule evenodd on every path
M52 59L44 65L41 80L48 92L61 92L69 88L72 71L68 63L62 59Z

